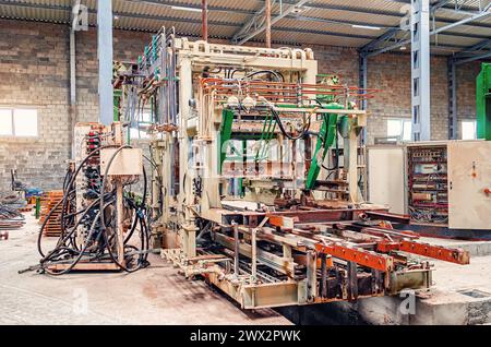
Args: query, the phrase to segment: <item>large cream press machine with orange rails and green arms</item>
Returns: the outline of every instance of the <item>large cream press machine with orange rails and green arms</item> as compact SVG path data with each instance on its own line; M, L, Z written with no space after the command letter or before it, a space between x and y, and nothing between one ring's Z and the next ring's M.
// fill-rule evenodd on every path
M359 106L376 91L318 75L312 50L163 28L119 83L121 120L151 136L154 242L242 308L429 288L429 262L408 254L469 262L395 230L407 216L364 202Z

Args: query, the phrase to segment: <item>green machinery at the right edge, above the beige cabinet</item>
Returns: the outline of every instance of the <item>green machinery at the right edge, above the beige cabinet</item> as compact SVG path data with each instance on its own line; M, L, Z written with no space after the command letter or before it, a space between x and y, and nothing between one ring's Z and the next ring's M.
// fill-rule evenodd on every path
M476 87L477 135L491 141L491 63L483 63Z

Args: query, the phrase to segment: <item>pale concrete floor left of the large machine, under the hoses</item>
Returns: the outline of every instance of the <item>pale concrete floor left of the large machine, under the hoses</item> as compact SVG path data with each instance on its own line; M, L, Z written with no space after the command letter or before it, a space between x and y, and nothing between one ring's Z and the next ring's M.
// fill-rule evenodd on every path
M26 219L23 229L0 241L0 324L291 324L273 310L240 310L157 255L151 256L149 268L134 274L20 275L39 261L39 225L32 216Z

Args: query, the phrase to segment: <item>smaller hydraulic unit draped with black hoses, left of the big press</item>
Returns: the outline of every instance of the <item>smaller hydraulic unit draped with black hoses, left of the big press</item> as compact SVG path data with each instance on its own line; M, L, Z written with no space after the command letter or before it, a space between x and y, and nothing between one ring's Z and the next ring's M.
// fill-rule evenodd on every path
M141 148L123 144L123 127L79 123L74 129L75 158L69 165L63 199L40 228L40 271L134 272L148 265L149 229L146 175ZM132 191L143 176L143 193ZM55 248L43 248L43 231L56 218L61 236Z

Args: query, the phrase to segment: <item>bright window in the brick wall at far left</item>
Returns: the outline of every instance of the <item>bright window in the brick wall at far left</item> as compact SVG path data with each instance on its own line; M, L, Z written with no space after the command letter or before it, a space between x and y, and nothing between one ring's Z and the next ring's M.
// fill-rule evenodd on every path
M0 135L37 136L37 110L25 108L0 109Z

